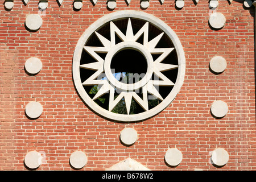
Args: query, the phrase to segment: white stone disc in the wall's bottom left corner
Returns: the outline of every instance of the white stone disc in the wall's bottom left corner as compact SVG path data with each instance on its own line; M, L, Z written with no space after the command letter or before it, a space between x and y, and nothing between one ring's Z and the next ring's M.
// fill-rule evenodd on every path
M42 155L39 152L28 152L24 158L24 163L30 169L38 168L42 164Z

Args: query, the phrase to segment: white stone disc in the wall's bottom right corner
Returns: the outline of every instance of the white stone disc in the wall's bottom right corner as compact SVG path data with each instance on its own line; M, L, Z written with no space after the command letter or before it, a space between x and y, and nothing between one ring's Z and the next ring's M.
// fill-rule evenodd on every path
M229 161L229 154L223 148L217 148L212 152L211 159L213 164L217 166L224 166Z

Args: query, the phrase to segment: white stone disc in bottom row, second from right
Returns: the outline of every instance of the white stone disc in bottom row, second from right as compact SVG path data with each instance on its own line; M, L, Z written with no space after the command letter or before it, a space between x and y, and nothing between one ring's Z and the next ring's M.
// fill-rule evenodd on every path
M177 148L170 148L164 155L164 159L170 166L177 166L182 160L182 154Z

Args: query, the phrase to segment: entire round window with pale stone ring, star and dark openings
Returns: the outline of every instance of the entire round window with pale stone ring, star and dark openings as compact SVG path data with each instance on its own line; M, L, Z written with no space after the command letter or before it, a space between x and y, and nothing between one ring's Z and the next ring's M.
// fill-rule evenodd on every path
M142 121L176 97L185 56L176 34L162 20L118 11L84 32L72 69L77 92L90 109L115 121Z

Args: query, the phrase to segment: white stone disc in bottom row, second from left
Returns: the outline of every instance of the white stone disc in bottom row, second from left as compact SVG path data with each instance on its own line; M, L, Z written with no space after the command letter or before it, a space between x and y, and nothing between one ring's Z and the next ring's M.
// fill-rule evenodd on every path
M87 161L87 156L82 151L73 152L69 158L71 166L76 169L81 169L82 167L84 167Z

